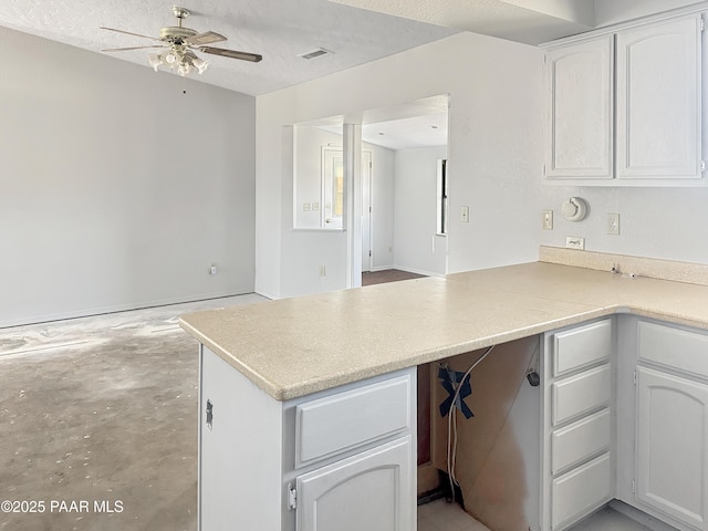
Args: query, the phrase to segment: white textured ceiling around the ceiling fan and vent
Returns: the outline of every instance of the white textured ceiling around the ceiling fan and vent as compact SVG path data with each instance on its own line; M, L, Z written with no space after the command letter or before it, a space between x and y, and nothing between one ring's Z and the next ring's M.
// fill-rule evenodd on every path
M102 49L154 44L101 30L105 25L157 37L177 25L164 0L4 0L0 25L102 53ZM259 95L345 70L451 35L459 30L412 21L326 0L185 0L186 27L228 38L219 48L263 55L260 63L204 55L209 70L192 77ZM299 53L315 48L334 52L308 61ZM112 53L147 65L149 50Z

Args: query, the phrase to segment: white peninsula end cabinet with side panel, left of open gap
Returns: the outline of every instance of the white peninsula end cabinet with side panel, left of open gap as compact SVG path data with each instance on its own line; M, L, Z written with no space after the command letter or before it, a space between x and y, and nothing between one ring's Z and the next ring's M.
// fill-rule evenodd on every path
M279 402L201 346L200 531L415 531L416 367Z

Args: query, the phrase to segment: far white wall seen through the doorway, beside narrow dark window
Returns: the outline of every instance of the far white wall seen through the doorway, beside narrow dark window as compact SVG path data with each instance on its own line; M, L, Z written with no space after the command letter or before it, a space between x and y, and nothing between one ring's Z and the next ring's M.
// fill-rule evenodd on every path
M438 160L447 147L396 150L396 268L445 274L446 237L437 232ZM451 218L450 218L451 219Z

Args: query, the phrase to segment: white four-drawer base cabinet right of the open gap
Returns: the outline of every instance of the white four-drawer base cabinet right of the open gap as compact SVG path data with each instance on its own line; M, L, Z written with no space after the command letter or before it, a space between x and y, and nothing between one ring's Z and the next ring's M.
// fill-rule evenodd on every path
M614 497L613 320L545 334L542 531L561 531Z

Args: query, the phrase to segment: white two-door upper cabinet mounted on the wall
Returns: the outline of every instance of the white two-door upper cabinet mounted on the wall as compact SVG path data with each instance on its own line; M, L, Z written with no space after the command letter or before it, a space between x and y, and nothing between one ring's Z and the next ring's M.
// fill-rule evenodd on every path
M702 186L702 21L688 13L548 48L548 183Z

